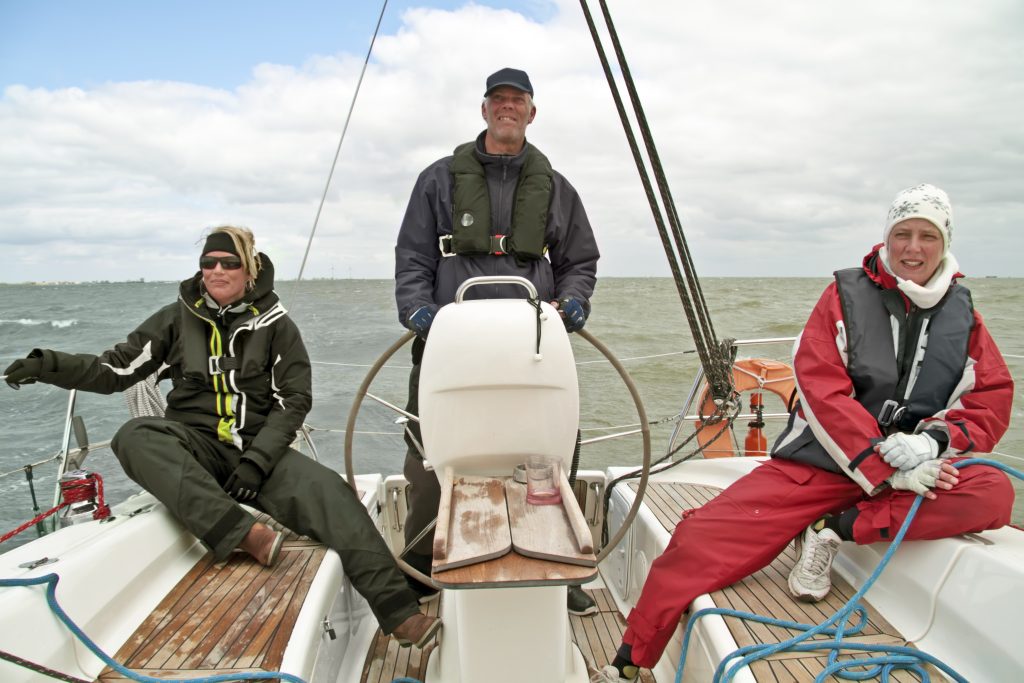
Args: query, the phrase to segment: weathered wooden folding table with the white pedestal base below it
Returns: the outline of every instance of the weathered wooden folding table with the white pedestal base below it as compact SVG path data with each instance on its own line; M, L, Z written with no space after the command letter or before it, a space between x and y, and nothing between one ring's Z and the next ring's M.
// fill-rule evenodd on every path
M569 634L566 586L596 577L597 560L564 475L561 494L560 505L529 505L526 486L511 477L445 469L432 579L449 590L441 600L439 656L431 656L427 680L588 681ZM545 663L541 670L539 661Z

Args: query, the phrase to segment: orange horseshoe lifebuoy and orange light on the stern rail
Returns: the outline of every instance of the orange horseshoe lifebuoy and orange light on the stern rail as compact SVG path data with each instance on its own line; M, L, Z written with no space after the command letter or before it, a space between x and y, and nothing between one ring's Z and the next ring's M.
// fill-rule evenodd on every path
M762 393L769 391L778 396L786 410L791 410L791 401L796 395L797 381L793 368L784 362L769 358L742 358L732 365L732 382L736 392L751 392L751 410L757 411L762 405ZM698 402L699 416L715 414L716 405L711 395L711 387L705 383ZM694 422L697 441L705 458L732 458L736 451L732 444L730 429L723 428L722 423L708 422L698 419ZM750 431L745 439L745 456L766 456L767 444L763 432L764 423L755 421L749 423Z

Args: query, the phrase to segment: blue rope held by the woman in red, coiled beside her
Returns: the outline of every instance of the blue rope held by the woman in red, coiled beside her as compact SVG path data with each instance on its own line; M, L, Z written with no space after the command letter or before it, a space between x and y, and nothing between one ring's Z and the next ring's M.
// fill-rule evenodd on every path
M994 460L987 460L984 458L968 458L967 460L962 460L959 462L953 463L953 467L962 468L967 465L988 465L989 467L994 467L996 469L1002 470L1008 474L1012 474L1019 479L1024 479L1024 473L1013 469L1002 463L995 462ZM837 676L839 678L844 678L852 681L864 681L871 678L881 677L882 681L889 681L889 676L894 670L906 670L915 674L922 681L928 683L930 677L927 670L924 668L924 664L931 664L935 668L941 670L946 675L948 675L952 680L957 681L957 683L967 683L967 679L953 671L949 666L935 658L934 656L923 652L922 650L905 647L899 645L867 645L867 644L854 644L854 643L844 643L844 634L855 634L859 633L861 629L864 628L867 622L867 611L863 606L860 605L860 598L871 588L878 578L882 574L882 570L885 569L886 565L889 564L889 560L892 558L893 553L896 552L896 548L903 541L903 537L906 536L906 530L910 526L910 522L913 520L914 515L918 514L918 509L921 507L924 497L918 496L913 501L913 505L910 506L910 510L906 515L906 519L903 520L903 525L900 526L899 532L896 538L893 539L892 543L889 545L888 550L886 550L885 555L879 562L879 566L876 567L871 575L864 582L864 586L857 591L856 594L837 611L833 616L825 620L817 626L812 626L809 624L798 624L795 622L786 622L782 620L771 618L768 616L761 616L759 614L752 614L750 612L738 611L735 609L726 609L722 607L711 607L708 609L701 609L695 614L690 616L689 622L686 625L686 633L683 637L683 651L679 657L679 668L676 670L675 683L680 683L683 678L683 668L686 666L686 652L689 647L690 636L693 633L693 627L697 621L707 616L708 614L722 614L725 616L736 616L750 622L757 622L760 624L768 624L771 626L778 626L793 631L803 631L802 634L794 636L788 640L784 640L779 643L770 644L758 644L758 645L748 645L745 647L740 647L736 651L730 653L728 656L722 659L715 670L715 677L713 681L715 683L720 683L723 681L731 681L736 673L743 667L749 666L751 663L758 659L763 659L776 652L782 650L795 651L795 652L807 652L815 650L828 650L828 665L825 669L815 678L816 682L824 681L829 676ZM857 613L860 616L860 622L853 626L853 628L847 629L847 620L852 613ZM818 634L824 634L826 636L831 636L831 640L821 640L813 641L812 643L805 643L812 636ZM840 661L839 651L840 650L859 650L865 652L879 652L882 656L872 656L862 659L846 659ZM726 666L730 661L739 657L738 661L735 661L729 666L728 671L724 671ZM860 671L847 671L850 668L857 668ZM724 673L723 673L724 672Z

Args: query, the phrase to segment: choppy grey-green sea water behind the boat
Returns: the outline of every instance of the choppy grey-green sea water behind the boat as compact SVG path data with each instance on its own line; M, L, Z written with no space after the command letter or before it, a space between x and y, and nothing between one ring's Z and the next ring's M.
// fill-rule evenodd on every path
M720 339L779 338L797 335L828 279L705 279L705 299ZM1000 460L1024 469L1024 281L968 279L976 307L1007 357L1017 382L1010 430L997 447ZM393 282L331 280L279 283L278 293L302 331L313 362L313 408L307 422L318 458L344 469L344 428L353 397L369 367L403 333L394 310ZM124 341L126 335L177 295L175 283L0 285L0 368L33 348L94 353ZM699 362L675 285L668 279L601 279L587 328L629 371L643 399L654 456L666 452L674 422L683 408ZM604 356L572 336L581 387L584 439L635 428L637 412L629 391ZM510 340L510 343L513 343ZM532 343L529 340L529 343ZM787 359L792 344L764 349L743 347L741 356ZM409 350L399 349L377 375L370 393L403 405ZM69 392L47 385L14 391L0 384L0 474L49 458L60 450ZM767 402L767 401L766 401ZM781 411L770 402L769 412ZM79 394L75 412L85 420L90 442L110 439L128 417L120 396ZM371 399L362 401L355 424L356 472L396 474L404 443L395 414ZM778 425L769 426L769 443ZM745 426L737 429L742 443ZM680 441L692 433L690 423ZM74 440L73 440L74 443ZM686 453L688 449L684 449ZM1016 458L1015 458L1016 457ZM581 467L637 465L638 435L584 447ZM99 472L108 497L117 501L135 490L110 451L90 455L86 468ZM54 466L34 471L38 506L52 505ZM1014 522L1024 523L1024 485ZM32 498L24 472L0 477L0 533L30 519ZM0 552L35 538L23 532Z

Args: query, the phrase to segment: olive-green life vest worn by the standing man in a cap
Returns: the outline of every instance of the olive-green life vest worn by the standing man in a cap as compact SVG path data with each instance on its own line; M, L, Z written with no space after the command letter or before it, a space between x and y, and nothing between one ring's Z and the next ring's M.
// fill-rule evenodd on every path
M530 143L516 184L512 225L506 234L493 236L490 194L483 166L473 151L476 142L460 144L452 160L455 180L452 191L452 252L455 254L504 254L527 260L544 256L544 232L548 224L554 172L548 158Z

